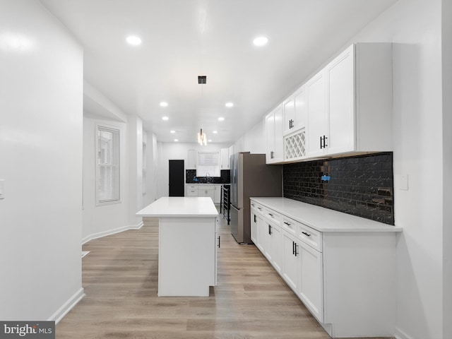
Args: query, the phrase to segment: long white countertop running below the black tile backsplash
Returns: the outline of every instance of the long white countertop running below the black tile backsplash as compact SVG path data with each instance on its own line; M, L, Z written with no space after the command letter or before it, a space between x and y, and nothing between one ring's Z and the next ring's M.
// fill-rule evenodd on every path
M289 198L251 198L256 203L320 232L402 232L391 226Z

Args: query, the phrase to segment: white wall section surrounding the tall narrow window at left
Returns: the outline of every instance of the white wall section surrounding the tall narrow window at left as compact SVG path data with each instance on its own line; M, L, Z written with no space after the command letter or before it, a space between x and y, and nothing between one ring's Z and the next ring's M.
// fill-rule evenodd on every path
M121 203L96 206L95 138L96 124L119 129L119 174ZM129 169L127 148L127 124L110 119L83 118L83 237L82 242L125 230L129 224Z

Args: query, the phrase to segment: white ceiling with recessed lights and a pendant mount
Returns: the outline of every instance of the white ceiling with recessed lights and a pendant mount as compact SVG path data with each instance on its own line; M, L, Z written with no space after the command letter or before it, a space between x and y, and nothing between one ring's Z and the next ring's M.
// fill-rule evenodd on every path
M83 45L85 81L158 141L196 142L202 127L232 144L396 0L41 2Z

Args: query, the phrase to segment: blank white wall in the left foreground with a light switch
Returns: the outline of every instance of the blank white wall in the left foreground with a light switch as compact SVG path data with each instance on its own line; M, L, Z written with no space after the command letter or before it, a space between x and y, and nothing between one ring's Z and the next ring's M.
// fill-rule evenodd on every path
M83 297L83 50L39 1L0 8L0 319L57 320Z

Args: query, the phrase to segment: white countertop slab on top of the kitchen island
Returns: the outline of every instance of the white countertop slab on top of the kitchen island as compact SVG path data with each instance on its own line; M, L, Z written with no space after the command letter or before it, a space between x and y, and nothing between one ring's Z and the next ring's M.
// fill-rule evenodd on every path
M209 197L166 196L136 213L137 217L217 217Z

